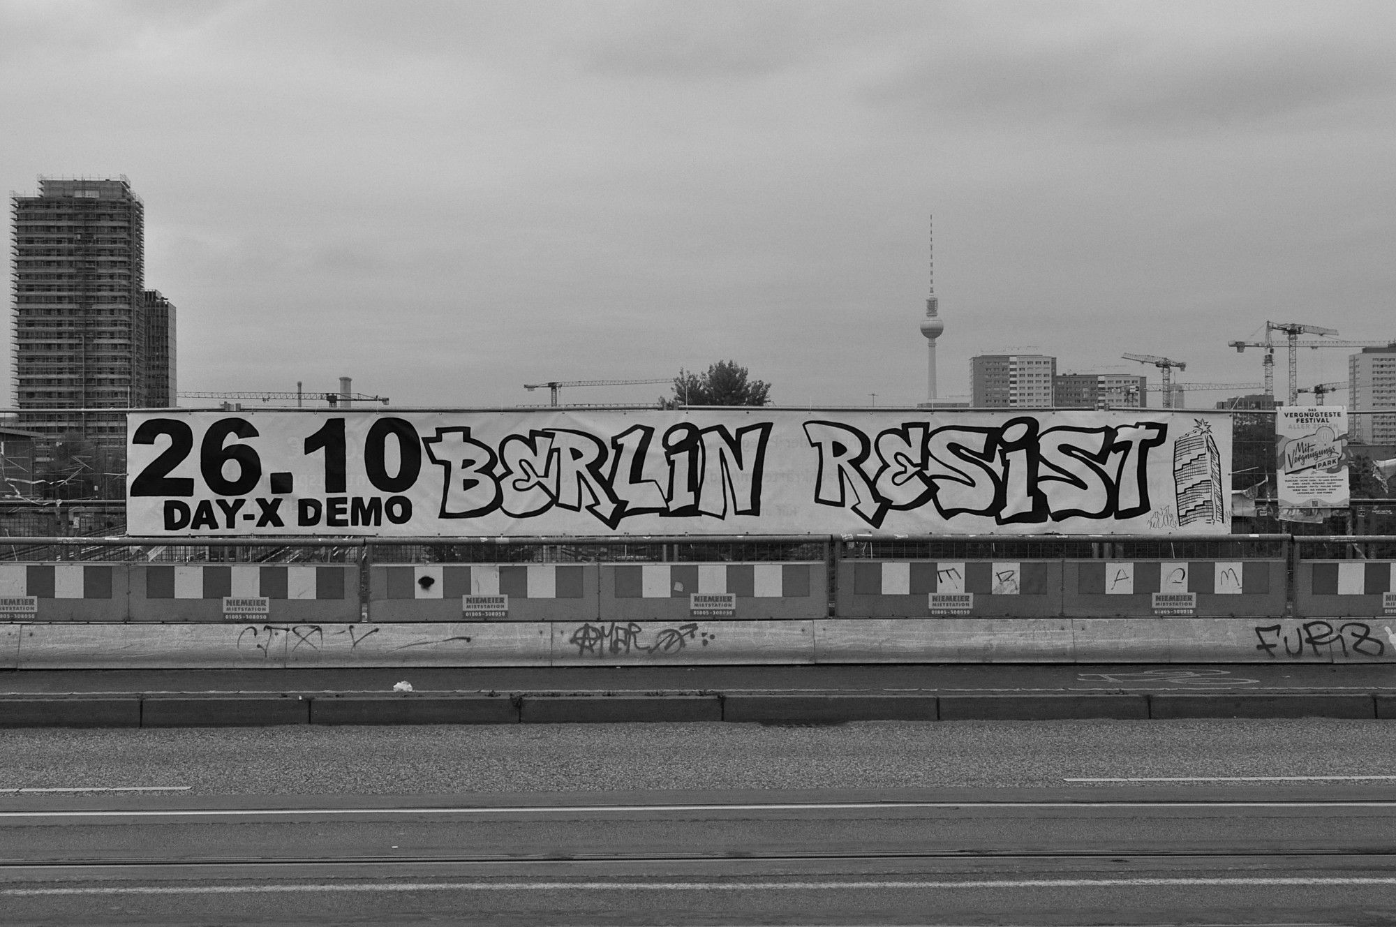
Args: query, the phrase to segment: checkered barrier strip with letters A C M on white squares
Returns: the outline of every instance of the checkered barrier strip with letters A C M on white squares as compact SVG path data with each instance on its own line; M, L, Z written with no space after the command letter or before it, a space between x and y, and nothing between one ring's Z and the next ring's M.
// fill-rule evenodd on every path
M1263 560L1131 561L1092 560L1076 567L1076 592L1097 595L1268 595L1270 563Z

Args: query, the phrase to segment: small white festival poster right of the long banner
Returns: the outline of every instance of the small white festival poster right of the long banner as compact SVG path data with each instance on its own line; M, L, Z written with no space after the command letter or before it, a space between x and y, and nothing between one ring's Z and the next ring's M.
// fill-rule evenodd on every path
M1347 406L1283 406L1275 410L1282 521L1322 521L1347 508Z

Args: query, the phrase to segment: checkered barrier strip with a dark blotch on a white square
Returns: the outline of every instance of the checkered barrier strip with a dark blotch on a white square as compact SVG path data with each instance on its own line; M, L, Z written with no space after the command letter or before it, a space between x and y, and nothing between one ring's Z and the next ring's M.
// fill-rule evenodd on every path
M581 599L581 565L475 564L383 567L383 599L455 599L497 596L510 599Z

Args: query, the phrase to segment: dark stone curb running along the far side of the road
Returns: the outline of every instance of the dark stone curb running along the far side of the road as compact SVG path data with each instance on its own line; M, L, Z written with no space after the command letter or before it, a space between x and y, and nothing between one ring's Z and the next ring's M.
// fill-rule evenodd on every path
M571 725L856 720L1396 719L1389 694L1005 694L741 692L570 695L539 692L322 692L282 695L4 695L6 727L267 727L279 725Z

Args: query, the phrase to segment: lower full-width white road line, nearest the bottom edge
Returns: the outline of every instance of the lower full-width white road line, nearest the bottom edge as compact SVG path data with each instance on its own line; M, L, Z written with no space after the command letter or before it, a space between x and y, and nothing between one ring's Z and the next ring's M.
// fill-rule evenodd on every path
M309 885L94 885L82 888L3 888L0 896L52 895L255 895L261 892L762 892L949 888L1251 888L1396 887L1390 877L1216 877L1216 878L1026 878L843 882L313 882Z

